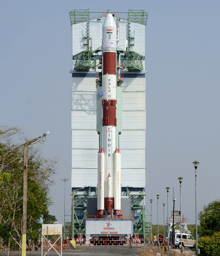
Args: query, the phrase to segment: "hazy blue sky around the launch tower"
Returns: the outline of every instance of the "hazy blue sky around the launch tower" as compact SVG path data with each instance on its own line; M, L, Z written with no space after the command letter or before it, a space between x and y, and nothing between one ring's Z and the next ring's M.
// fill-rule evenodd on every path
M119 3L119 4L118 4ZM126 6L126 7L124 7ZM219 1L2 1L0 4L1 125L23 127L29 138L50 131L42 146L46 158L57 156L59 172L50 208L63 222L71 209L71 24L69 12L148 12L146 25L146 210L163 224L172 190L179 209L195 223L197 160L198 212L220 194L220 33ZM61 209L61 210L60 210ZM166 209L166 206L165 206ZM146 212L147 213L147 212ZM166 211L165 211L166 216ZM150 217L147 217L147 219Z

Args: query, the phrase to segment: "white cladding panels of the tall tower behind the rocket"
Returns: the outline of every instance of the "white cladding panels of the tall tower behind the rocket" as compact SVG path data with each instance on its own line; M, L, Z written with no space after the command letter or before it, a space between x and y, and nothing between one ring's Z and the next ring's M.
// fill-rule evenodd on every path
M92 50L102 46L102 19L89 21ZM87 49L87 22L73 28L73 56ZM128 45L128 21L121 19L119 47ZM131 49L145 55L145 26L130 22ZM96 60L96 64L99 60ZM73 60L73 69L75 60ZM145 61L143 60L145 67ZM93 69L95 71L95 69ZM145 70L145 68L144 68ZM74 72L72 79L72 187L97 186L96 73ZM122 70L123 72L123 70ZM127 73L129 74L129 73ZM132 73L131 73L132 74ZM141 76L142 75L142 76ZM122 186L145 187L145 77L124 75L123 123L120 135Z

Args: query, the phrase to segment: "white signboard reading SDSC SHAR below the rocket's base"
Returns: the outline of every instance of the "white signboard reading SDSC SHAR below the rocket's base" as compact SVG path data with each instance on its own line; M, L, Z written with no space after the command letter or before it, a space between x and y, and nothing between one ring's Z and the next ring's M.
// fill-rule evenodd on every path
M87 220L85 235L128 235L133 233L132 220Z

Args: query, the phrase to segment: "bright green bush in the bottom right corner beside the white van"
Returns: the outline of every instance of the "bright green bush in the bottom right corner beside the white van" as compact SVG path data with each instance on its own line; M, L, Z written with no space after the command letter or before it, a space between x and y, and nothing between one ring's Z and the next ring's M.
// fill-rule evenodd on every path
M198 239L198 248L201 256L219 256L220 232L216 232L210 237L204 236ZM194 245L194 250L196 250L196 244Z

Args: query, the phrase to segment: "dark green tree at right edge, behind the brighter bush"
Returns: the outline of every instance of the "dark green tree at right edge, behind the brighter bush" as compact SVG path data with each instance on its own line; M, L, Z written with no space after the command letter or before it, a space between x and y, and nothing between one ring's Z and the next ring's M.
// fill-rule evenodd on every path
M220 200L210 202L199 212L198 219L200 226L198 233L200 236L211 236L220 231Z

